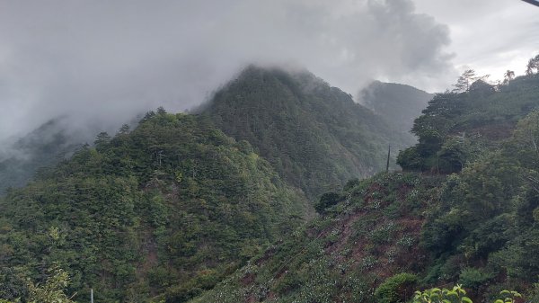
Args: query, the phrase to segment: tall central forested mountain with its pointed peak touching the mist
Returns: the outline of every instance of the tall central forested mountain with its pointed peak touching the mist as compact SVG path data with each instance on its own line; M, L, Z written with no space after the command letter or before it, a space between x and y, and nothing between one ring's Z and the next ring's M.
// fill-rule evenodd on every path
M311 198L384 170L388 145L398 150L413 144L411 136L306 71L247 67L200 113L228 136L249 141Z

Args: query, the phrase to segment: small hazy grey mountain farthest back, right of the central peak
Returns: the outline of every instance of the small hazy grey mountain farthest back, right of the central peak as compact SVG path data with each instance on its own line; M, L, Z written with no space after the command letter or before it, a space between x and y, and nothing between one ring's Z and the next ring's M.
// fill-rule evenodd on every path
M427 107L434 94L410 85L374 81L359 92L359 100L372 111L384 117L394 129L409 134L413 120Z

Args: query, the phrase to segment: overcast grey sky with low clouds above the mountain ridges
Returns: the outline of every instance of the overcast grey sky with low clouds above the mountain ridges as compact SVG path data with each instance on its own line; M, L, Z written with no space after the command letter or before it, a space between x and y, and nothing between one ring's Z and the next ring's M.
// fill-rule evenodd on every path
M444 91L466 68L522 74L539 7L519 0L0 0L0 147L57 117L118 129L208 100L243 67Z

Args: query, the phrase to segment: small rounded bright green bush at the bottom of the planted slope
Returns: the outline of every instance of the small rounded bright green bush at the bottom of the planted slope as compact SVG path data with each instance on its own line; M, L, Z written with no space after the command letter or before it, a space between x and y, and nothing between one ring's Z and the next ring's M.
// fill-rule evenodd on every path
M402 272L393 275L380 284L375 290L378 303L406 302L411 298L414 284L418 278L415 274Z

